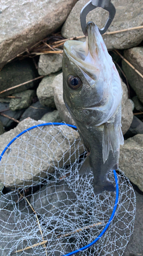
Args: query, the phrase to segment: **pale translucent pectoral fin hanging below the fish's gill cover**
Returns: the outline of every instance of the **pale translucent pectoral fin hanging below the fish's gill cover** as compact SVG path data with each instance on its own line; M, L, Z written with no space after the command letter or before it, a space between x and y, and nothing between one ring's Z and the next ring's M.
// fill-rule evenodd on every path
M112 151L114 156L116 151L119 150L120 144L124 144L121 125L115 127L115 125L112 123L105 123L102 142L102 156L104 163L108 159L109 150Z

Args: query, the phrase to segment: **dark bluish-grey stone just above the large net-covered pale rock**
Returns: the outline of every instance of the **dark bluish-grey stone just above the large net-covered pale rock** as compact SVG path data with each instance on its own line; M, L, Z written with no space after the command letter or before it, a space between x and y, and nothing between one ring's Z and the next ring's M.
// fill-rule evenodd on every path
M20 121L27 117L31 117L35 120L40 120L43 115L45 115L47 112L50 112L51 109L47 106L43 106L40 104L39 101L36 103L33 103L28 109L25 110L23 115L20 118Z

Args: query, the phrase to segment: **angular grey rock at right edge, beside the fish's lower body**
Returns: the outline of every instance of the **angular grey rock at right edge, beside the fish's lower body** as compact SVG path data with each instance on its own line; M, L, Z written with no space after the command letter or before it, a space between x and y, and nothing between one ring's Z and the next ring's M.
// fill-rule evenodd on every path
M120 146L119 166L125 175L143 191L143 134L125 140Z

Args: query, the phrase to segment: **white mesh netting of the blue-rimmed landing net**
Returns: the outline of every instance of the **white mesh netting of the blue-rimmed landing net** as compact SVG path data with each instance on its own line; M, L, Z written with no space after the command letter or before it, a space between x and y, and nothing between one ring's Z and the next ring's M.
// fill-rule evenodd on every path
M62 256L99 236L116 193L94 195L93 174L78 175L82 152L77 132L67 125L37 126L9 145L0 162L2 181L12 189L0 198L0 255ZM113 220L77 255L123 254L133 231L135 194L121 171L117 177ZM116 184L112 171L108 178Z

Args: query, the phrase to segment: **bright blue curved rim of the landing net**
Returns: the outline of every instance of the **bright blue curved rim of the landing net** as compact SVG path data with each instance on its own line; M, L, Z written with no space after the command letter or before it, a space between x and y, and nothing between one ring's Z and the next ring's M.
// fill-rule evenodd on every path
M1 156L0 156L0 161L2 160L2 157L3 155L5 154L6 150L9 148L9 146L17 139L19 138L22 134L30 131L30 130L33 130L37 127L40 127L40 126L46 126L46 125L67 125L69 127L72 127L74 129L77 129L77 127L75 125L72 125L72 124L67 124L67 123L59 123L59 122L49 122L49 123L40 123L40 124L37 124L37 125L34 125L32 127L29 127L28 129L24 130L23 132L19 133L17 136L15 136L9 143L8 145L4 148ZM72 252L69 252L67 254L64 254L63 256L70 256L70 255L73 255L77 252L80 252L80 251L83 251L85 249L88 249L89 247L91 247L92 245L94 245L102 236L103 234L105 233L105 231L107 230L107 228L109 227L114 215L115 215L115 212L116 212L116 209L117 209L117 205L118 205L118 199L119 199L119 185L118 185L118 178L117 178L117 174L116 174L116 170L113 170L113 174L115 176L115 181L116 181L116 200L115 200L115 205L113 207L113 210L112 210L112 214L110 216L110 219L108 221L108 223L106 224L105 228L102 230L102 232L99 234L99 236L93 241L91 242L90 244L88 245L85 245L75 251L72 251Z

